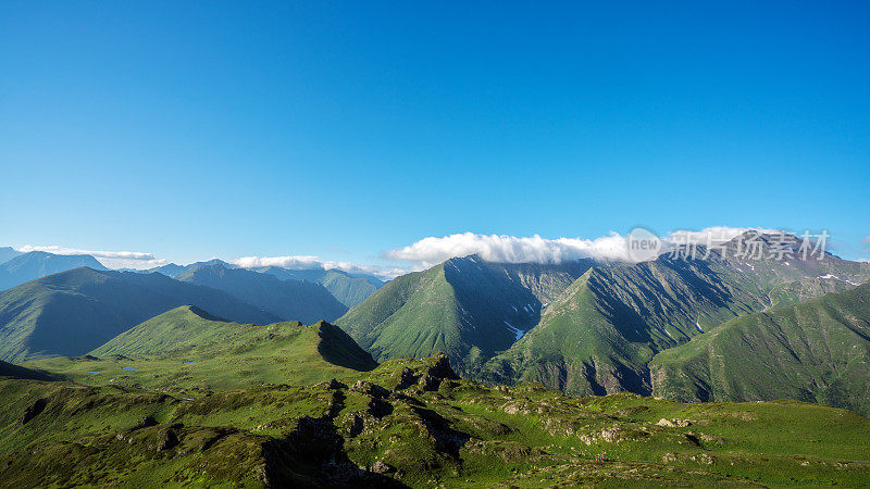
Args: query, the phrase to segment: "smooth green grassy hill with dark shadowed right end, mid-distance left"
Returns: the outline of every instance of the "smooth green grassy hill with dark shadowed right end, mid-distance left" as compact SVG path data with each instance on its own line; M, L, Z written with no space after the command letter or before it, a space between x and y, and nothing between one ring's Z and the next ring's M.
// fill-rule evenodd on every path
M189 393L264 383L306 385L345 378L377 364L327 323L241 325L182 306L124 331L88 355L25 365L88 385Z

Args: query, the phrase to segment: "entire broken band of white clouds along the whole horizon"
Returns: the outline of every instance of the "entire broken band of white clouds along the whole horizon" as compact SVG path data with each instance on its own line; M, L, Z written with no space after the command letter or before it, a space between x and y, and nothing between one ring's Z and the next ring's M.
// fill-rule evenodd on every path
M779 233L775 229L759 227L714 226L699 231L676 230L661 236L662 251L667 252L674 243L694 242L707 244L728 241L747 230ZM868 237L870 238L870 237ZM110 268L151 268L166 264L152 253L134 251L92 251L58 246L24 246L18 251L47 251L55 254L90 254ZM323 260L316 255L284 256L243 256L227 262L243 268L279 266L290 269L339 269L350 274L374 275L391 279L409 272L434 266L445 260L477 254L483 260L507 263L562 263L571 260L592 258L602 261L632 261L627 253L626 235L611 231L608 236L594 239L556 238L538 235L518 237L509 235L483 235L458 233L444 237L426 237L402 248L383 253L383 258L400 264L370 265L346 261Z

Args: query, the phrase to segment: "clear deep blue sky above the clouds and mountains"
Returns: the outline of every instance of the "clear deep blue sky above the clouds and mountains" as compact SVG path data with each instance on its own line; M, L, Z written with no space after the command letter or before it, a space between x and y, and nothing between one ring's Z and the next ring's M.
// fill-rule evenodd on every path
M724 225L870 256L866 2L469 3L0 3L0 243L387 266Z

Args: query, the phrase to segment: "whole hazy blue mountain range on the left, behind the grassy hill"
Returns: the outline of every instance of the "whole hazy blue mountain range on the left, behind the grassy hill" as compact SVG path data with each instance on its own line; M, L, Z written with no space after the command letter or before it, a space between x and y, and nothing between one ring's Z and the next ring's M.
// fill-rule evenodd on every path
M333 321L382 283L338 271L250 271L220 260L164 265L159 273L112 272L91 255L0 249L0 359L84 354L148 317L188 304L223 317L265 324ZM172 277L171 277L172 276ZM173 278L174 277L174 278Z

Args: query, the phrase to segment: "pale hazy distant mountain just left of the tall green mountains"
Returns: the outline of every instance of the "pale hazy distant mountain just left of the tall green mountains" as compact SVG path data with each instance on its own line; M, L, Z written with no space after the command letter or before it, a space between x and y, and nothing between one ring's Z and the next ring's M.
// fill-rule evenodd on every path
M257 272L274 275L282 280L316 281L347 308L364 301L384 285L383 281L371 275L353 275L340 269L287 269L266 266Z

